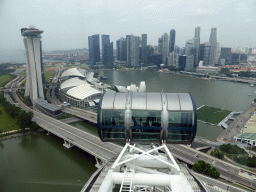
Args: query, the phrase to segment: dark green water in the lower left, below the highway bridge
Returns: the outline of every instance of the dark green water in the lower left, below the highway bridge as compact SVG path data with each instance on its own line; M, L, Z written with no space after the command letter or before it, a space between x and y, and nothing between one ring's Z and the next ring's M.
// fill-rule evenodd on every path
M80 191L95 158L45 132L0 141L0 191Z

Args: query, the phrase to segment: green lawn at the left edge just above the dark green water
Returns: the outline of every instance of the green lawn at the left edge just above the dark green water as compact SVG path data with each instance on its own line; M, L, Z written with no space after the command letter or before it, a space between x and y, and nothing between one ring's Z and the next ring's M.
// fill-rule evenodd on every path
M4 110L4 108L0 105L0 131L12 131L19 129L17 122L14 118L11 118Z

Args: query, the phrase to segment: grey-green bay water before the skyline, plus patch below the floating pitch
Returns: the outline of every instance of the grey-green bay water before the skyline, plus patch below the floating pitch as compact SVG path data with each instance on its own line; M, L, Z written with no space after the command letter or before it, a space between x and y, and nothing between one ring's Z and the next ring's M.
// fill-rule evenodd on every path
M107 77L104 82L110 85L139 86L146 83L147 92L190 93L197 107L209 105L231 111L242 111L253 101L254 87L249 84L210 81L196 77L148 72L141 70L100 70L99 75ZM223 128L198 122L197 136L215 139Z

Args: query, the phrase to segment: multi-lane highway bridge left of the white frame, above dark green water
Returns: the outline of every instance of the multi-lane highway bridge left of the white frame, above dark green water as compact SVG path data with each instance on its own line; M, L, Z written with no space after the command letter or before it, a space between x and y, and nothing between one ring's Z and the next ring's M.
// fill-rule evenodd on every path
M110 160L119 155L122 148L113 143L103 143L98 137L77 129L69 124L58 121L52 117L35 111L23 104L14 93L14 98L19 102L19 106L26 111L32 111L37 124L49 132L61 137L65 141L81 148L101 160Z

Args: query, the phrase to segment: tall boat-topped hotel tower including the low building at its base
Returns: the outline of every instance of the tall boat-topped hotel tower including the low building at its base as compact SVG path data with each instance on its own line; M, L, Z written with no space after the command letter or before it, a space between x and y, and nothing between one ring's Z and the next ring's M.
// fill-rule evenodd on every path
M24 37L24 46L27 56L27 81L25 96L29 96L33 107L56 117L61 114L61 108L51 105L44 98L45 77L42 60L41 34L43 31L34 26L22 28L21 35Z

